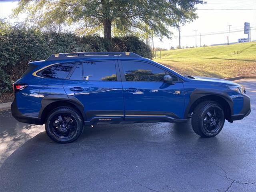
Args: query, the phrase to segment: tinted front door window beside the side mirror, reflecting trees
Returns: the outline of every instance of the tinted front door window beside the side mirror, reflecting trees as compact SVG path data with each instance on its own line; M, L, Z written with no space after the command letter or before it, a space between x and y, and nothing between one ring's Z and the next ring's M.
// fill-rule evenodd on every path
M164 70L138 61L122 61L126 81L163 81Z

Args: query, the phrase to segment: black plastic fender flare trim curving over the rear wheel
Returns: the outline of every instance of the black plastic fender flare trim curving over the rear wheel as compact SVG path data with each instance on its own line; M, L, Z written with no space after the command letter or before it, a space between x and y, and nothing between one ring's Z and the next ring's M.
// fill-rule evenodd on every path
M47 106L49 106L49 104L57 101L66 101L66 102L69 102L70 104L75 105L76 108L78 108L78 110L82 114L84 120L86 120L86 115L84 113L84 105L76 97L70 96L70 95L64 95L64 94L50 94L42 98L41 109L39 111L38 117L41 118L44 109Z

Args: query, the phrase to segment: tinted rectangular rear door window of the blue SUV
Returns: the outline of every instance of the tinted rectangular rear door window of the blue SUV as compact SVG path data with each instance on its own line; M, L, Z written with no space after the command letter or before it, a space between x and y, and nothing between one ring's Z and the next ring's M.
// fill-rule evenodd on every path
M84 80L117 81L114 61L84 62Z

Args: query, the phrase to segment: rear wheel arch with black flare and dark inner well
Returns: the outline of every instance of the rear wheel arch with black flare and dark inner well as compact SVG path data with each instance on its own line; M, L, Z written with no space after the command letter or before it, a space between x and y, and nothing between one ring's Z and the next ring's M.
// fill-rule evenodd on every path
M60 106L71 106L80 113L83 121L86 120L84 105L77 98L68 95L52 94L45 96L41 101L41 109L38 117L41 118L42 123L45 122L48 112Z

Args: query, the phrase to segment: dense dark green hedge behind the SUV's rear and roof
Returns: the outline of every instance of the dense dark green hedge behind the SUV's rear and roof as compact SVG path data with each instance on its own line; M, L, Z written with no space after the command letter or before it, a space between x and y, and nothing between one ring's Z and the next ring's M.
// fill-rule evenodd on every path
M1 23L0 23L1 27ZM12 91L15 82L28 67L28 62L44 60L60 52L106 51L104 38L93 35L78 37L72 33L41 32L21 25L0 30L0 95ZM152 58L150 47L136 36L115 37L113 51L135 52Z

